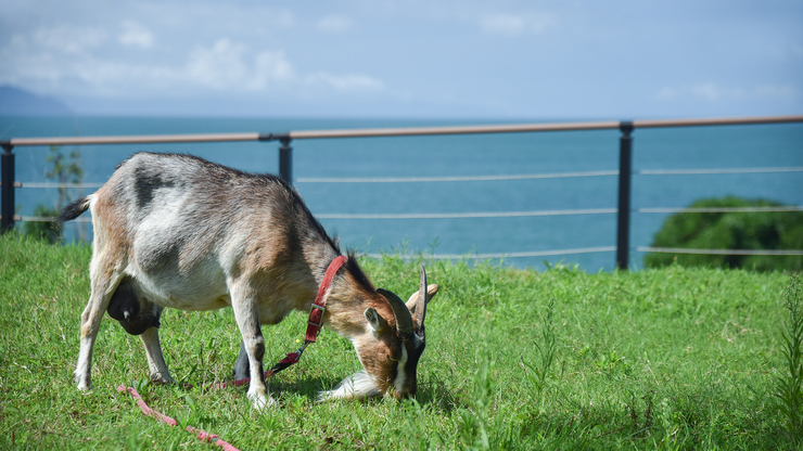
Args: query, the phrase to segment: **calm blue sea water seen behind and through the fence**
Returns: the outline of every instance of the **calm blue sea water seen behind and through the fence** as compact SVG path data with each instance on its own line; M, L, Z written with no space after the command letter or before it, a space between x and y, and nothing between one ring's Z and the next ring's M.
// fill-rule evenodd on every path
M471 125L445 120L10 117L0 139L211 132L285 132ZM488 123L476 123L488 124ZM320 183L314 178L468 177L611 171L619 168L617 130L485 136L295 140L293 178L311 211L342 244L358 252L512 254L614 246L616 216L573 215L447 219L335 219L331 214L463 214L615 208L615 176L419 183ZM803 125L637 129L634 171L803 167ZM140 151L190 153L252 172L278 171L277 142L82 145L85 182L104 182ZM64 151L71 149L65 147ZM46 182L48 147L17 147L16 179ZM88 194L92 190L85 190ZM79 193L73 193L77 197ZM737 195L803 205L803 172L647 176L633 178L633 209L685 207L703 197ZM54 189L17 190L21 215L53 205ZM632 215L630 247L649 246L667 214ZM80 224L73 226L80 228ZM89 226L87 228L91 229ZM87 230L91 233L91 230ZM68 236L76 236L74 229ZM632 266L643 255L633 250ZM506 258L506 265L614 268L614 253Z

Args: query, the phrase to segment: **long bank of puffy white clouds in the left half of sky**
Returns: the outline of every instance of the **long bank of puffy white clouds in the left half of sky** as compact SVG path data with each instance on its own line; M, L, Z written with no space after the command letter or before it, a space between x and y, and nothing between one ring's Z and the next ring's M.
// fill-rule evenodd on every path
M140 33L143 29L136 24L125 27L126 33L136 33L120 35L128 36L120 43L137 48L153 46L153 38L145 38L150 35ZM63 36L74 39L60 40ZM203 96L212 92L305 96L310 92L315 95L375 93L385 89L381 80L365 74L299 73L283 51L254 50L229 38L195 47L183 59L158 63L150 59L116 57L118 52L107 44L94 51L104 36L102 30L75 33L74 29L14 36L9 42L0 43L0 59L14 62L0 66L0 83L41 93L115 98Z

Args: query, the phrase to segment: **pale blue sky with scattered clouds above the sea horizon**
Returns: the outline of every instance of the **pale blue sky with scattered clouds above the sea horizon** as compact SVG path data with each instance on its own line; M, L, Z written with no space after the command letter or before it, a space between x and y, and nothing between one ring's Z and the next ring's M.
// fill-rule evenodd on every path
M803 114L803 0L0 0L0 62L79 114Z

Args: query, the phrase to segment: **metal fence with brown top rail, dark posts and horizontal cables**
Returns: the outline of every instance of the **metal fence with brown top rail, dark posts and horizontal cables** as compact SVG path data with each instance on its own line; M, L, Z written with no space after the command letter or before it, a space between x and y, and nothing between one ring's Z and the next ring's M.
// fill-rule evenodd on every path
M547 131L579 131L579 130L615 130L620 136L620 165L615 171L587 171L563 173L509 175L509 176L480 176L480 177L411 177L411 178L299 178L297 182L307 183L399 183L399 182L431 182L431 181L467 181L467 180L522 180L538 178L568 178L568 177L617 177L619 203L616 208L577 209L577 210L536 210L536 211L507 211L507 212L467 212L467 214L401 214L401 215L317 215L319 218L345 219L390 219L390 218L483 218L483 217L535 217L535 216L565 216L565 215L600 215L615 214L616 245L583 249L555 249L535 253L481 254L476 258L498 257L537 257L551 255L571 255L597 252L615 252L616 267L628 268L630 250L630 215L633 212L713 212L713 209L692 208L639 208L632 210L632 180L634 175L706 175L706 173L767 173L767 172L803 172L803 167L781 168L749 168L749 169L689 169L689 170L639 170L633 171L633 138L635 129L668 128L668 127L701 127L701 126L735 126L761 124L803 123L803 116L776 117L747 117L747 118L714 118L714 119L670 119L670 120L625 120L625 121L591 121L591 123L561 123L561 124L514 124L489 126L456 126L456 127L415 127L415 128L378 128L378 129L342 129L342 130L302 130L286 133L207 133L207 134L162 134L162 136L120 136L120 137L61 137L61 138L12 138L0 141L2 154L2 205L0 206L0 232L14 228L16 221L53 220L53 218L20 217L14 215L16 188L98 188L99 184L84 183L59 185L52 183L21 183L14 176L14 147L49 146L49 145L92 145L92 144L149 144L149 143L200 143L200 142L237 142L237 141L278 141L279 146L279 176L288 182L293 181L293 156L290 143L293 140L310 139L341 139L341 138L370 138L370 137L420 137L445 134L480 134L480 133L523 133ZM772 207L772 208L719 208L717 212L755 212L755 211L803 211L802 206ZM674 253L674 254L724 254L724 255L803 255L800 249L787 250L747 250L747 249L687 249L687 248L653 248L637 247L637 252ZM442 258L461 256L445 255Z

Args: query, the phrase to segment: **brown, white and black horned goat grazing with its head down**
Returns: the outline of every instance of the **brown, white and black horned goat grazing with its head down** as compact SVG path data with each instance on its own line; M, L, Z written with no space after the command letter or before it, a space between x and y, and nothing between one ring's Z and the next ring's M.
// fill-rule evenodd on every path
M92 348L103 312L139 335L150 379L173 383L158 340L164 308L231 307L242 335L235 381L250 377L257 409L275 401L265 385L262 324L309 311L332 260L341 255L288 183L191 155L138 153L95 193L68 205L61 220L89 209L94 237L91 295L80 323L78 389L91 387ZM426 305L438 291L421 267L405 302L374 288L348 254L328 294L323 324L347 337L364 371L320 399L412 396L424 350Z

